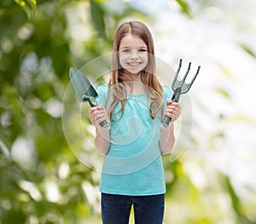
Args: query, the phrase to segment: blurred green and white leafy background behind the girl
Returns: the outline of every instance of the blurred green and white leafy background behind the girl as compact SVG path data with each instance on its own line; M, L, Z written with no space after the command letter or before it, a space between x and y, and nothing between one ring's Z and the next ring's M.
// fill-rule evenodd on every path
M189 140L164 158L164 223L256 223L255 8L249 0L1 0L0 223L101 223L102 157L90 144L88 108L80 109L90 142L81 143L78 103L62 102L69 67L110 53L125 20L150 27L170 66L180 57L202 66ZM63 113L85 163L67 144Z

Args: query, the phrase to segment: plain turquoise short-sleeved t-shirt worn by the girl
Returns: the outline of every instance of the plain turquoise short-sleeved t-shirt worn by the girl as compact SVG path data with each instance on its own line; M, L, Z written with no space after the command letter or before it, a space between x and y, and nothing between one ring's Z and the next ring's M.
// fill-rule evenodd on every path
M97 89L99 104L106 102L108 85ZM172 98L172 90L163 86L164 100ZM100 191L131 196L154 195L166 192L165 172L160 153L161 112L152 119L149 113L148 95L128 95L123 116L119 118L120 103L110 122L110 148L104 158Z

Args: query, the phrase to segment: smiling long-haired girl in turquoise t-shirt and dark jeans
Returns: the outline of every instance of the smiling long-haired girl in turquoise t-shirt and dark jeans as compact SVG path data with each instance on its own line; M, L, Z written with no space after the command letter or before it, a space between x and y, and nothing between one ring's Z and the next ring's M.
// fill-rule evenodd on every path
M172 90L154 75L153 38L142 22L119 26L111 71L108 85L97 89L100 106L89 112L96 125L96 150L105 155L100 183L102 222L129 223L133 205L135 223L159 224L166 192L161 154L172 151L173 122L181 110L169 100ZM172 122L161 130L165 115ZM99 125L104 120L110 129Z

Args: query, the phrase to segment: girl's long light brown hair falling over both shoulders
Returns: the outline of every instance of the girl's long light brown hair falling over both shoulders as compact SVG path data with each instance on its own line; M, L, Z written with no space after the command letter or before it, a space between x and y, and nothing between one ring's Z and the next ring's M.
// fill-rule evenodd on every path
M111 76L108 83L107 101L110 99L110 95L113 95L113 97L108 105L108 118L111 121L114 121L113 110L119 101L121 102L121 108L119 112L121 112L121 116L123 115L125 102L127 101L127 97L125 95L125 83L130 83L132 87L131 78L125 74L122 66L120 65L118 54L121 39L128 34L141 38L147 45L148 65L143 69L141 79L142 83L144 84L145 91L151 100L149 106L150 117L154 119L161 108L163 89L159 80L154 75L155 58L153 37L151 32L148 30L148 27L140 21L124 22L119 26L114 36Z

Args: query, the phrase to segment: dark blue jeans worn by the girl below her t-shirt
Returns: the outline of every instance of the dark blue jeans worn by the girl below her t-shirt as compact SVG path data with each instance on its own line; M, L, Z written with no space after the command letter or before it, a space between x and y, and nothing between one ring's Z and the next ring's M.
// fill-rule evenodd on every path
M165 211L165 194L125 196L102 192L103 224L128 224L131 205L136 224L161 224Z

